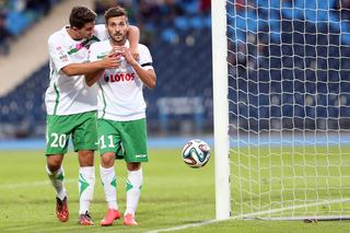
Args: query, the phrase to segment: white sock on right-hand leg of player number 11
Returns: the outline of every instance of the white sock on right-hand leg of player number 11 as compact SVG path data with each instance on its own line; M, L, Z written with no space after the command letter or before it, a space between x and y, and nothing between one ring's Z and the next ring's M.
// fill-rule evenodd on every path
M138 171L128 171L127 179L127 210L125 214L132 213L135 214L136 209L138 208L138 202L141 194L142 186L142 168Z

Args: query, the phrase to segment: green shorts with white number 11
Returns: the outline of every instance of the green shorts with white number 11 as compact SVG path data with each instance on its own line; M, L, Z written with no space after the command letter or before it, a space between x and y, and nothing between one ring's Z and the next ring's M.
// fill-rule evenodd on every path
M148 162L145 119L97 119L100 153L115 152L126 162Z

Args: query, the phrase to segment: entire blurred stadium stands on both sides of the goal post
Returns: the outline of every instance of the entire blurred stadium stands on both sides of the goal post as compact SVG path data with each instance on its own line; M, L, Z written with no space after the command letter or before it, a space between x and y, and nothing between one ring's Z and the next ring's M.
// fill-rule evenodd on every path
M0 139L44 138L47 38L73 5L127 8L158 73L152 136L211 135L210 0L0 0ZM350 128L350 0L228 1L232 130ZM214 26L214 25L213 25Z

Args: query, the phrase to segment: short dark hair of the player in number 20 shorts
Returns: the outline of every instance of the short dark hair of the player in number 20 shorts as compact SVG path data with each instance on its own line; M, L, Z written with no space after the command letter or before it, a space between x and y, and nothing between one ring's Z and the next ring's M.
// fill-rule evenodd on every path
M72 8L69 15L71 27L82 28L86 23L95 22L97 14L84 5Z

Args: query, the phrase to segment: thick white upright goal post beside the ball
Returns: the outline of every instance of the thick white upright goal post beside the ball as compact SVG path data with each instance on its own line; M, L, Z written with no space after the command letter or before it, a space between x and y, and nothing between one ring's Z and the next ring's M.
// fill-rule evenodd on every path
M225 3L225 0L211 0L217 220L231 215Z

